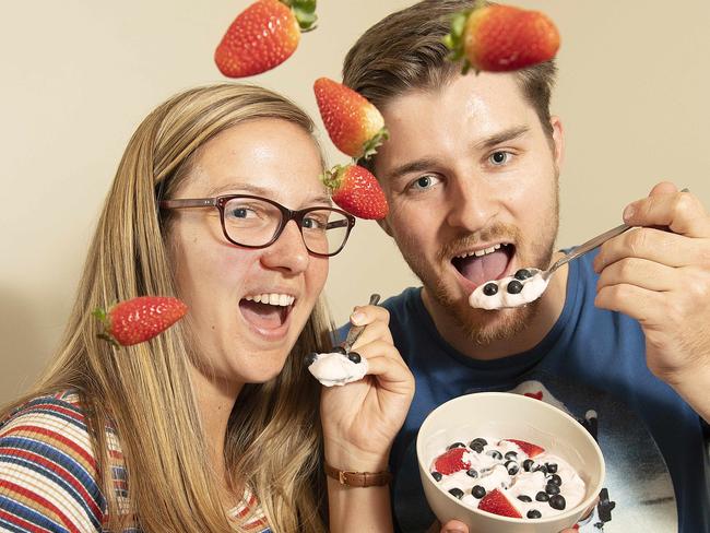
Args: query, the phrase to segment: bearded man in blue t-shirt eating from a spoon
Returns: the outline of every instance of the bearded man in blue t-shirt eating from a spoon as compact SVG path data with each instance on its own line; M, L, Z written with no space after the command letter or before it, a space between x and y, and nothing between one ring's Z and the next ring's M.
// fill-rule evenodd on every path
M343 69L390 130L364 164L390 202L382 228L423 283L383 304L416 378L391 455L398 526L435 520L414 453L426 415L499 390L555 403L599 436L606 489L580 530L708 532L710 218L691 193L659 183L624 212L639 228L557 271L537 301L473 309L476 286L561 256L564 135L549 114L552 62L462 75L445 59L448 17L470 7L426 0L394 13Z

